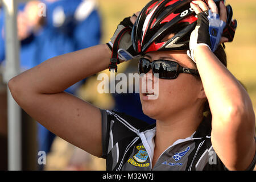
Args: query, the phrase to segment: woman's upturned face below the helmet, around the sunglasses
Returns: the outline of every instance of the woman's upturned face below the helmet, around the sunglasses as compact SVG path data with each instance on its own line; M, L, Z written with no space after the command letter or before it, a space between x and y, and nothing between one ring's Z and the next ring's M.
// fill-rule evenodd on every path
M164 59L179 63L181 67L196 69L195 64L189 59L185 51L158 51L149 52L144 55L151 62L154 60ZM166 80L159 78L159 94L156 100L148 100L148 96L142 93L142 82L147 80L147 84L151 84L154 88L156 78L151 75L152 69L140 79L140 97L143 113L148 117L163 120L172 114L179 114L182 111L191 109L198 105L199 100L204 94L203 85L200 79L188 73L180 73L174 80ZM146 79L145 79L146 78ZM151 79L152 78L152 79ZM147 90L147 92L150 90ZM151 90L152 92L152 90Z

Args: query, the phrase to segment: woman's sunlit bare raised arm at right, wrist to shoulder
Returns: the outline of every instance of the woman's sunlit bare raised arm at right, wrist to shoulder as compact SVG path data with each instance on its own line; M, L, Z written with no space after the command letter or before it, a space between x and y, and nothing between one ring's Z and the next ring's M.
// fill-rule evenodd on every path
M221 11L225 11L223 4ZM194 49L194 57L212 112L213 148L228 169L246 169L255 155L250 97L207 46Z

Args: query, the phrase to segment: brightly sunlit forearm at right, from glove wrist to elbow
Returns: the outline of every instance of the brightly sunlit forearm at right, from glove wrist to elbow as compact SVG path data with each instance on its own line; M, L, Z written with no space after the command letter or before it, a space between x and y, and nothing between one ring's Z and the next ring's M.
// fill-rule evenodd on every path
M238 107L242 110L250 107L251 111L253 107L246 90L209 48L199 46L195 57L212 114L225 117Z

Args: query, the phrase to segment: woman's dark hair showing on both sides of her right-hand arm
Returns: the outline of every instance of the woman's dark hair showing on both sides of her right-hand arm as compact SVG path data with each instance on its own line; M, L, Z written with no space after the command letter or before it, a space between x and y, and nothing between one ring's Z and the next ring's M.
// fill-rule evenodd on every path
M222 64L225 65L225 67L228 67L226 52L221 45L218 46L217 50L214 52L214 55L218 57L218 59L221 61ZM212 113L210 112L210 106L209 106L208 100L205 102L203 114L205 117L212 119Z

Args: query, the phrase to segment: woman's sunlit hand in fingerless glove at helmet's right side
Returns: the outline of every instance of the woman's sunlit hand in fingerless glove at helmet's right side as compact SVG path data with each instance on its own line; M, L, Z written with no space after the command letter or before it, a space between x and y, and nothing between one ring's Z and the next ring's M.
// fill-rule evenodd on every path
M196 62L193 51L198 46L207 46L212 52L216 51L220 43L228 42L228 38L222 37L226 26L226 7L220 2L220 15L214 1L192 1L191 7L198 16L197 26L191 34L188 55Z

